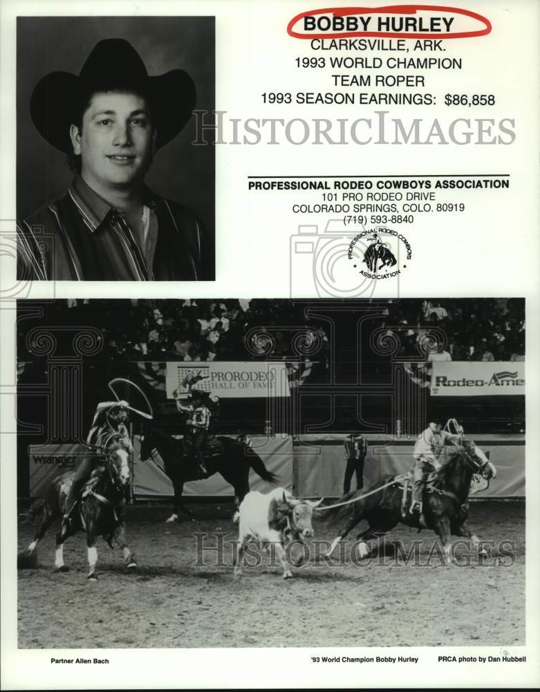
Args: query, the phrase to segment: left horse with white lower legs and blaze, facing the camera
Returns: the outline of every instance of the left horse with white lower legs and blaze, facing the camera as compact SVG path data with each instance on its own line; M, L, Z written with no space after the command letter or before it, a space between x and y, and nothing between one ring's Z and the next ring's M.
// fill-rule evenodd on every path
M105 456L104 464L94 469L89 482L84 486L78 508L72 511L69 522L62 523L56 536L55 568L57 572L67 572L68 567L64 565L64 542L77 531L86 531L90 581L97 580L97 536L103 536L111 548L115 540L122 549L127 568L132 570L137 567L136 558L127 546L125 536L125 495L129 487L131 442L114 432L106 439L102 449ZM48 486L45 497L30 507L30 516L39 516L41 513L41 519L34 540L24 556L26 559L21 557L21 564L35 559L37 544L53 521L64 513L64 504L74 475L75 471L59 475Z

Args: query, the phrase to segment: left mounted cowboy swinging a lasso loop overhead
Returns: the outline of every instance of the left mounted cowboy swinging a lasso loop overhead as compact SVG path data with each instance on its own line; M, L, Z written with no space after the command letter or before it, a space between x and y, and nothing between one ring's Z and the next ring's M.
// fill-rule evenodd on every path
M120 435L124 440L124 446L129 453L133 453L133 446L129 439L127 424L129 421L129 403L124 401L102 401L95 408L92 426L86 437L86 444L104 450L107 441L113 435ZM92 471L102 460L102 455L87 455L77 467L73 476L73 484L64 504L64 518L62 525L69 522L73 509L80 500L80 493L86 482L89 481Z

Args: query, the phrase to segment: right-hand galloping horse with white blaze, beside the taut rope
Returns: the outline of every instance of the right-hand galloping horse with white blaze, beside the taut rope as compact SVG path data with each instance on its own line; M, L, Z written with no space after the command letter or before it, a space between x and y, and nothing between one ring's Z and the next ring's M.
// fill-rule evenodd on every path
M435 531L440 537L446 561L448 561L452 534L469 538L473 545L480 543L476 534L465 523L469 510L467 500L473 473L480 473L484 478L494 478L496 468L473 442L463 440L462 446L456 445L449 453L447 462L430 475L429 484L425 489L423 503L425 522L427 528ZM337 522L347 519L343 531L334 539L329 554L333 552L339 541L364 519L369 527L357 536L362 540L359 546L361 557L371 553L375 547L370 545L373 539L380 540L400 522L419 529L425 528L420 526L418 513L411 514L407 511L408 502L402 509L403 480L403 476L383 476L367 489L347 493L337 500L336 504L358 498L355 502L327 511L321 507L320 511L324 511L325 520Z

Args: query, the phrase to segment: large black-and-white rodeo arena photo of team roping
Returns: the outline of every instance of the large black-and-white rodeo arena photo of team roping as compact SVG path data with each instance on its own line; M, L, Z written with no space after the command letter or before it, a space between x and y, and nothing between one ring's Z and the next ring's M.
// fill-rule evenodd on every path
M524 345L519 298L19 301L19 647L525 644Z

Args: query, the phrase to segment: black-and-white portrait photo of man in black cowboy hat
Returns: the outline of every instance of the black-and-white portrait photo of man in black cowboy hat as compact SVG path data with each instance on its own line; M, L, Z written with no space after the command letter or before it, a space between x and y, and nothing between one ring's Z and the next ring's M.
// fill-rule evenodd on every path
M214 280L214 17L17 18L17 277Z

